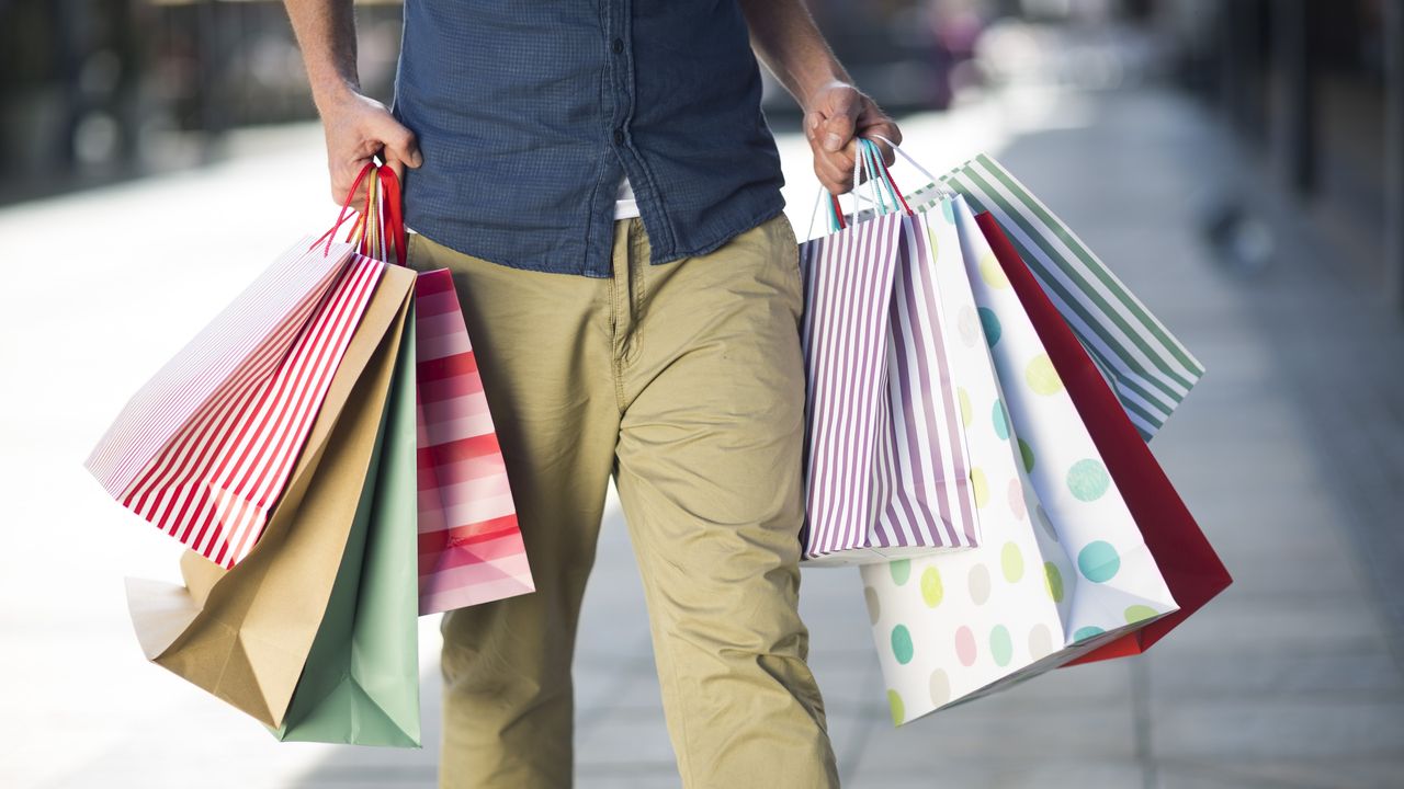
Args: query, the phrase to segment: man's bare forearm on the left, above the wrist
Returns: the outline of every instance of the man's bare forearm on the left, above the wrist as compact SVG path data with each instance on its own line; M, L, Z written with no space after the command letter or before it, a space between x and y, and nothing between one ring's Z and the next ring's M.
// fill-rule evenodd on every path
M323 114L333 102L361 90L351 1L284 0L307 67L312 100Z

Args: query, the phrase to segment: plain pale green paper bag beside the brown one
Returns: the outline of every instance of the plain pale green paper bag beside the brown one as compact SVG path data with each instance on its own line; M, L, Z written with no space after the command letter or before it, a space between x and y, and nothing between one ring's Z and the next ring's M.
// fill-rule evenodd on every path
M326 616L272 730L279 740L420 745L417 512L414 333L406 331Z

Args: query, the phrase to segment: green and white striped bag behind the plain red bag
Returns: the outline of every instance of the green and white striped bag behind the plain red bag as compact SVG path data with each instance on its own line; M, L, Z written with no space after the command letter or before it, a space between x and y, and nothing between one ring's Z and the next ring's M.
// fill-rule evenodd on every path
M1199 382L1203 365L998 161L977 156L941 183L965 195L972 211L994 216L1150 441ZM928 184L907 199L915 211L929 209L943 191Z

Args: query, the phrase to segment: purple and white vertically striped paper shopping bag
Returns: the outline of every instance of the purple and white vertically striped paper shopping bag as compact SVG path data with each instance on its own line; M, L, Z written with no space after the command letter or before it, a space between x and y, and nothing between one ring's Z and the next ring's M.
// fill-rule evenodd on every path
M887 215L800 247L810 564L979 542L921 218Z

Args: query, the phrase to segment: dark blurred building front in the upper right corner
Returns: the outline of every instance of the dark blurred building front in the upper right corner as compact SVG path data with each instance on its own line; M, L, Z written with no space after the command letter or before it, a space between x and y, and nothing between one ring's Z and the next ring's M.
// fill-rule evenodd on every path
M1154 18L1182 83L1339 250L1331 265L1404 306L1404 6L1163 0Z

